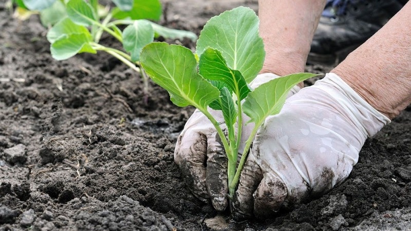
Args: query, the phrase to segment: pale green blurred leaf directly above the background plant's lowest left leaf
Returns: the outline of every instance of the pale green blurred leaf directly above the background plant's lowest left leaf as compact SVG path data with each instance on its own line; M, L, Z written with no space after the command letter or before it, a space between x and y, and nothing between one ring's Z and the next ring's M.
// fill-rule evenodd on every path
M87 38L87 41L92 40L91 34L86 27L73 23L68 17L55 24L47 32L47 40L52 44L64 34L83 34Z

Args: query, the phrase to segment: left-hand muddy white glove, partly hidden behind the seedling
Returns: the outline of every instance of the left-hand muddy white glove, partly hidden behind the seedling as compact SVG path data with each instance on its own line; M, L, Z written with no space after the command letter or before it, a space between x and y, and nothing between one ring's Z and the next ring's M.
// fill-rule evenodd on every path
M272 73L259 74L250 87L278 78ZM295 86L289 96L300 90ZM221 111L209 109L217 122L224 123ZM244 115L245 116L245 115ZM244 150L245 140L251 133L251 126L242 128L242 142L239 152ZM223 130L226 130L223 128ZM174 151L174 161L193 194L202 201L211 202L215 209L222 211L228 205L227 156L220 138L209 119L200 111L194 111L178 137Z

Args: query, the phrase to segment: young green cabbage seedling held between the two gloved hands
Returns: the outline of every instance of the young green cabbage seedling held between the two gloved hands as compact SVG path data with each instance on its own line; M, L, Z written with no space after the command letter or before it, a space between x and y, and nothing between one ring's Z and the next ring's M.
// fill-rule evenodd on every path
M259 127L269 115L279 113L295 84L316 75L290 74L251 89L248 84L261 70L265 58L258 24L252 9L238 7L207 22L195 54L166 43L150 43L140 54L142 68L170 93L175 105L196 107L214 125L228 157L230 199ZM216 121L208 108L221 110L225 121ZM243 113L250 118L248 121L244 121ZM253 123L254 128L237 164L243 123ZM227 137L221 124L227 127Z

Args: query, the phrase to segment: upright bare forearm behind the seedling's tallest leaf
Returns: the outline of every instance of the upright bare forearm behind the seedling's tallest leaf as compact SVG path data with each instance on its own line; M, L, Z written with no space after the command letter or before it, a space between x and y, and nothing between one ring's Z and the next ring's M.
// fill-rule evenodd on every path
M304 71L324 0L259 0L260 35L266 49L262 73Z

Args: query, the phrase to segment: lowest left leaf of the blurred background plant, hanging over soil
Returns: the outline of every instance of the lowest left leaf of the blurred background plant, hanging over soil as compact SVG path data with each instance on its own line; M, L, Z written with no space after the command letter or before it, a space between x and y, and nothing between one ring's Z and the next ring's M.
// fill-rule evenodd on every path
M50 52L56 60L66 60L78 53L97 53L85 34L64 34L51 44Z

